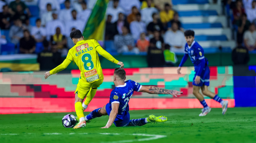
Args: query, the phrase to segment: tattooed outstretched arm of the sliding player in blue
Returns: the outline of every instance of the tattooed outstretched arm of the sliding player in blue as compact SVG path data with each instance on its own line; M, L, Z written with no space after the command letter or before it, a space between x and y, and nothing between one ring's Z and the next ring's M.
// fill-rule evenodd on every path
M152 86L149 86L149 87L142 86L139 92L146 92L149 94L171 94L175 97L177 97L177 95L183 94L183 92L179 92L177 90L161 89L161 88L152 87Z

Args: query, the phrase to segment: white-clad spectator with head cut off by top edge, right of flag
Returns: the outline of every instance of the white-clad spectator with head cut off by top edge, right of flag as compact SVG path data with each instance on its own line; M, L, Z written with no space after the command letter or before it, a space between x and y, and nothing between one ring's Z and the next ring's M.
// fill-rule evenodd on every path
M139 0L120 0L119 6L125 11L125 15L132 13L133 6L136 6L137 9L141 9L141 3Z

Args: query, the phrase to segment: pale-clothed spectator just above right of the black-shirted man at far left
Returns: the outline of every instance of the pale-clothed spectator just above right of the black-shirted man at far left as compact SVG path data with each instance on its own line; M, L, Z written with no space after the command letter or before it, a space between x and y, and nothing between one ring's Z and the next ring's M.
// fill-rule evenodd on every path
M34 37L36 42L43 42L46 37L46 29L41 26L41 20L36 20L36 26L31 29L31 35Z

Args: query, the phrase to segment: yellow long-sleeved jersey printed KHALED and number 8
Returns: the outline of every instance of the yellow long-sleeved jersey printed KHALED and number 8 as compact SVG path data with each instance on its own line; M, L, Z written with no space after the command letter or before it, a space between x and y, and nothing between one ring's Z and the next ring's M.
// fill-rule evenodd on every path
M68 51L66 60L68 59L70 62L74 61L81 71L81 79L84 82L90 83L98 80L99 77L103 77L98 53L115 64L119 62L105 51L94 39L78 41L77 44ZM63 63L64 62L65 61L63 61ZM67 63L69 64L70 62ZM61 66L61 64L59 66ZM55 74L58 71L63 70L63 67L61 69L60 68L61 67L58 68L57 66L55 69L50 71L50 74Z

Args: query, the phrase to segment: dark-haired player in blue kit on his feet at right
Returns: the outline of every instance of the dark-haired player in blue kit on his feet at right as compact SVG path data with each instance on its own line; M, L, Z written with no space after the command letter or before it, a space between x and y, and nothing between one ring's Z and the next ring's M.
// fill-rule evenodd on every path
M190 57L192 63L195 66L195 77L193 79L193 94L203 105L202 113L199 116L205 116L210 111L211 108L205 102L203 95L206 95L222 105L222 114L224 115L227 111L228 101L222 100L218 95L210 92L208 86L210 84L210 69L208 66L208 60L204 56L203 48L194 41L195 32L192 30L187 30L184 32L185 39L187 44L185 45L185 55L183 56L181 63L178 67L178 74L181 74L181 67L186 62L188 56ZM203 95L199 92L200 88L202 89Z

